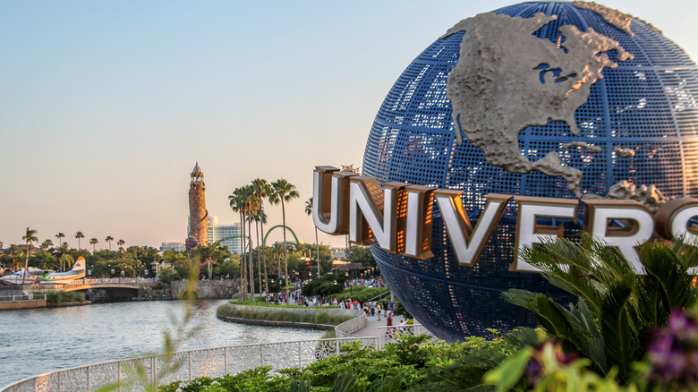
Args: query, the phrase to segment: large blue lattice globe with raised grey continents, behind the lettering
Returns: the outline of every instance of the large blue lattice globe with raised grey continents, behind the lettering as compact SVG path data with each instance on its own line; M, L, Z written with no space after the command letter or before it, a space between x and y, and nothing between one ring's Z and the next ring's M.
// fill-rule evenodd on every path
M638 200L656 211L698 197L696 163L688 55L625 13L541 2L465 19L427 47L380 107L362 167L381 184L462 190L474 223L488 193ZM440 338L535 325L501 293L561 293L540 274L509 270L516 209L508 204L472 267L456 260L436 205L434 257L371 251L404 308ZM580 222L567 222L565 236L578 238Z

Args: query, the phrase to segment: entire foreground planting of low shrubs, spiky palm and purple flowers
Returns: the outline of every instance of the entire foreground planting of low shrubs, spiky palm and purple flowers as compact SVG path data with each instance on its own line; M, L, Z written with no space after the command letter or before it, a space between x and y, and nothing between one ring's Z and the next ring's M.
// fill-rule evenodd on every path
M645 274L637 275L618 251L591 237L545 243L526 250L525 260L575 300L564 306L546 294L506 294L534 312L539 330L504 337L492 330L489 342L471 337L452 345L404 337L380 351L356 343L302 370L262 367L163 390L698 390L698 304L689 273L697 254L681 242L646 244L639 249Z

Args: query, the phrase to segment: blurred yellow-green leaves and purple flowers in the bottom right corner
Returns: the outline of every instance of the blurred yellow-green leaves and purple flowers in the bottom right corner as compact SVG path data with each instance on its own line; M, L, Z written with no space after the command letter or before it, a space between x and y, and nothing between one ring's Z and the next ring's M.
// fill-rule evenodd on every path
M547 340L507 358L485 375L497 391L617 391L688 392L698 390L698 320L673 311L668 326L652 330L648 354L633 362L625 385L617 381L617 367L605 375L592 371L592 360L577 359L558 342Z

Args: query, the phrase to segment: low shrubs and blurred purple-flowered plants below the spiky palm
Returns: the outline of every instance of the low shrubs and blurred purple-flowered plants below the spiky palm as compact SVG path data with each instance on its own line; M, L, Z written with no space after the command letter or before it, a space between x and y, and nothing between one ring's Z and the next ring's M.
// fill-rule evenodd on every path
M271 371L259 367L216 379L175 381L163 392L176 391L608 391L688 392L698 388L698 321L675 311L667 328L654 331L650 354L634 362L626 385L617 370L592 371L589 358L566 353L542 330L523 328L487 341L468 337L462 343L430 344L426 337L398 336L383 350L360 342L341 347L342 354L303 369Z

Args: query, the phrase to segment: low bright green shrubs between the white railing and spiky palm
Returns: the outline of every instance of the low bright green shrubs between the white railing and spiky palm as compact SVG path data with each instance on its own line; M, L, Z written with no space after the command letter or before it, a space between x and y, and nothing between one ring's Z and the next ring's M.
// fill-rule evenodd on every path
M384 350L362 347L360 342L341 347L342 355L331 356L309 364L303 369L272 372L269 367L243 371L217 379L200 378L177 381L161 388L174 391L398 391L464 390L461 374L451 371L466 358L504 357L514 354L523 345L515 339L495 338L488 342L481 337L466 339L453 345L430 345L425 337L403 336L398 343ZM476 363L473 363L476 364ZM476 367L482 368L477 365ZM494 365L484 367L490 369ZM486 370L474 371L484 374ZM473 374L474 374L473 373ZM481 378L478 378L478 380ZM435 387L438 389L426 389Z

